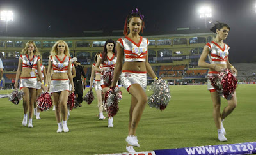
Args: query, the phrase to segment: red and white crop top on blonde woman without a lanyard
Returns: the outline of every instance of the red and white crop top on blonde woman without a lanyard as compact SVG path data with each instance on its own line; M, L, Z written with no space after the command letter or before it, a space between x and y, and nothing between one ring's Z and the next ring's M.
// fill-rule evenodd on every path
M63 60L60 60L57 55L54 58L50 57L52 61L52 69L54 73L68 73L68 65L71 57L65 55Z

